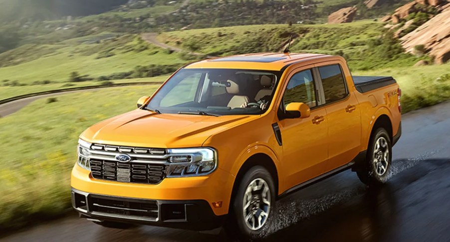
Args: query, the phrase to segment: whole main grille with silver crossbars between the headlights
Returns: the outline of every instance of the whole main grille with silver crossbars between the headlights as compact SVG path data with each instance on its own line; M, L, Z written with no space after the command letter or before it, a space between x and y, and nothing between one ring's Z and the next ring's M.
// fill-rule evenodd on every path
M158 184L166 177L166 149L92 144L85 155L82 149L79 147L78 155L89 161L86 167L90 167L95 179ZM120 154L128 155L131 160L118 161L116 156Z

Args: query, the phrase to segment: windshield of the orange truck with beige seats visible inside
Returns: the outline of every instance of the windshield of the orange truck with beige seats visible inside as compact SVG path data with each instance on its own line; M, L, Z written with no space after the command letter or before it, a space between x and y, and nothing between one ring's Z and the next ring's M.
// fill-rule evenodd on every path
M146 109L170 114L258 115L273 98L280 72L182 69Z

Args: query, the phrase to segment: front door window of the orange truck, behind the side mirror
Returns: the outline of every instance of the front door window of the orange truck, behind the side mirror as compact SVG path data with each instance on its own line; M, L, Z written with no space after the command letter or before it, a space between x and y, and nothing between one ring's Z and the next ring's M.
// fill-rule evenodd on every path
M296 73L291 77L284 91L283 101L285 107L290 103L304 103L310 108L317 106L311 70Z

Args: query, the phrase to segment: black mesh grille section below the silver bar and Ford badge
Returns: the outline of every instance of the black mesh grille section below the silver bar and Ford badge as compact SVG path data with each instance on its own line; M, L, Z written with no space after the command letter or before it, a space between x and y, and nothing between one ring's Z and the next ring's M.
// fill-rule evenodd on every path
M90 159L92 177L119 182L160 183L166 174L166 165L121 163Z

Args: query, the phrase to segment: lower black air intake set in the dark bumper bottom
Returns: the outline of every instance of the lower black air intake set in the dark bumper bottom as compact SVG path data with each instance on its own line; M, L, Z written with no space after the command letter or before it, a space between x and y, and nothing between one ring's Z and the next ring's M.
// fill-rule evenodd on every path
M158 220L158 204L156 201L123 200L114 197L89 195L89 212L108 214L122 218L139 220Z

